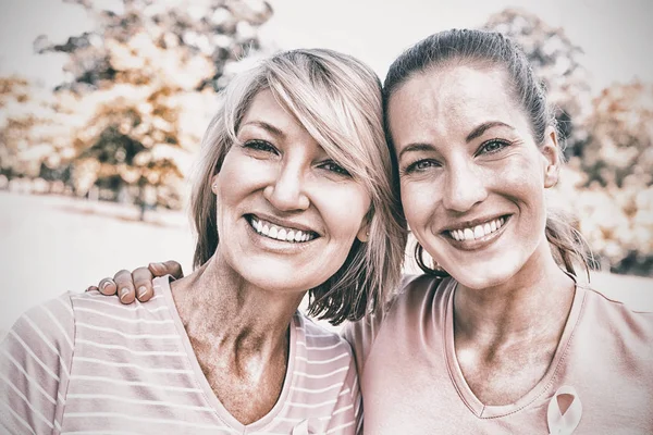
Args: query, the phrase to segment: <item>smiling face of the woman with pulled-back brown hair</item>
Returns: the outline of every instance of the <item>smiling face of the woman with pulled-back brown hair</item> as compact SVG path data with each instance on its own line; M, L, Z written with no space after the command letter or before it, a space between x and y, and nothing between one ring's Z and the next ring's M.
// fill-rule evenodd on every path
M557 181L555 135L538 147L507 83L500 69L443 67L412 76L389 103L408 224L470 288L537 271L551 256L544 190Z

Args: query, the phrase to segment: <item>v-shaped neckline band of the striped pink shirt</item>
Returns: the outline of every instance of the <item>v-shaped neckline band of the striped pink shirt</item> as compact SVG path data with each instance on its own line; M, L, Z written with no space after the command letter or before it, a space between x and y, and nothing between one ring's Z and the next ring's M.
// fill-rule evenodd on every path
M194 372L195 381L197 382L198 387L201 389L209 406L211 408L213 408L213 410L215 411L215 413L220 420L222 420L224 423L226 423L232 428L235 428L236 431L242 432L242 433L245 433L245 431L247 431L247 432L259 431L263 426L270 424L276 417L281 415L281 413L283 412L283 409L287 401L288 394L294 386L294 382L295 382L294 377L295 376L293 376L293 373L295 373L295 371L296 371L295 366L298 364L298 361L296 361L296 353L297 353L296 352L296 347L297 347L296 344L297 344L297 340L304 340L303 328L300 327L301 321L299 319L299 313L296 312L293 315L293 320L291 322L291 326L289 326L291 337L288 340L288 345L289 345L288 364L286 368L285 378L283 381L283 387L281 389L281 394L279 395L279 398L276 399L276 402L274 403L272 409L266 415L263 415L261 419L255 421L254 423L243 424L234 415L232 415L231 412L229 412L229 410L224 407L224 405L222 405L222 402L220 401L218 396L215 396L215 393L213 393L213 389L211 388L211 385L209 384L204 372L201 371L201 366L199 365L199 362L197 361L197 357L195 356L195 351L193 350L193 346L190 345L190 339L188 338L188 334L186 334L186 328L184 327L184 324L182 323L182 319L181 319L180 313L174 303L174 299L172 297L172 290L170 288L169 278L170 278L170 275L155 278L153 287L155 287L155 289L161 290L161 293L163 294L163 296L165 298L165 302L168 303L168 308L174 320L174 325L177 330L177 334L180 336L181 344L183 345L186 357L187 357L188 362L190 363L190 368Z

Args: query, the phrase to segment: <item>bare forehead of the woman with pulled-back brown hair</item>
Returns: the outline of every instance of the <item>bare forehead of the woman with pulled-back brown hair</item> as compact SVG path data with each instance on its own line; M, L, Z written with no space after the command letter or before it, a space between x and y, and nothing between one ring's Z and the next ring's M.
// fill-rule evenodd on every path
M466 137L490 121L528 128L508 84L507 73L500 67L457 65L418 73L390 99L395 147Z

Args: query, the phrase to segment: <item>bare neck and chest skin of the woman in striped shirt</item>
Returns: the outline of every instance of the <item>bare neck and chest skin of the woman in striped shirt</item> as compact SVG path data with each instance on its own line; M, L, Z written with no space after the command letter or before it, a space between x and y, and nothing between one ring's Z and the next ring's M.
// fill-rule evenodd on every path
M241 423L263 418L286 374L288 325L304 293L254 288L213 257L171 285L209 385Z

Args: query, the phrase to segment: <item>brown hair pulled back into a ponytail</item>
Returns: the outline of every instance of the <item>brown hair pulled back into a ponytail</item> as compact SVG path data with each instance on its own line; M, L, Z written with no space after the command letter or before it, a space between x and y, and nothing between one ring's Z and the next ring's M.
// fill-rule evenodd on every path
M387 124L387 102L392 94L410 77L429 69L456 63L475 63L481 66L503 67L509 77L513 97L521 104L530 120L531 134L537 144L543 144L546 128L557 128L554 111L546 101L546 91L533 74L523 51L500 33L452 29L441 32L417 42L402 53L390 66L383 84L386 139L392 144ZM558 158L563 160L564 141ZM580 263L589 274L591 256L587 244L568 219L550 211L546 217L546 239L558 265L576 275L575 263ZM446 276L443 270L427 266L423 248L417 244L415 257L420 269L430 274Z

